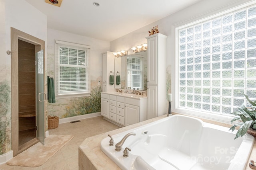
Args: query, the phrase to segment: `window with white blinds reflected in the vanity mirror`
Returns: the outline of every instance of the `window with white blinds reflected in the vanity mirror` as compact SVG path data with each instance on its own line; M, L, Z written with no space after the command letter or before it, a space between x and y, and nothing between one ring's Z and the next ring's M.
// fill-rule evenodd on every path
M126 86L143 89L143 58L126 57Z

